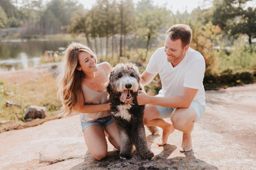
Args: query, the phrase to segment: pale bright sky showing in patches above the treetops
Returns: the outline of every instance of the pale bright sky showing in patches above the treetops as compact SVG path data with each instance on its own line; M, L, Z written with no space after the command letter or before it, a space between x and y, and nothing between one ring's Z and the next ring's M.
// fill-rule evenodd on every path
M136 4L139 0L133 0ZM81 4L84 5L85 8L91 9L92 5L96 3L96 0L78 0ZM158 6L166 6L168 10L171 10L173 13L179 12L191 12L194 8L198 8L200 6L203 8L206 6L207 8L211 6L211 2L206 2L204 0L153 0L154 5Z

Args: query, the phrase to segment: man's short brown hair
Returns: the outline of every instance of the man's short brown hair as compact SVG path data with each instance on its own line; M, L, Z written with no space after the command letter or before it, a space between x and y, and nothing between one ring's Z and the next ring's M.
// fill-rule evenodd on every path
M167 35L170 36L171 40L180 39L182 46L185 47L186 45L190 45L193 34L189 25L176 24L167 30Z

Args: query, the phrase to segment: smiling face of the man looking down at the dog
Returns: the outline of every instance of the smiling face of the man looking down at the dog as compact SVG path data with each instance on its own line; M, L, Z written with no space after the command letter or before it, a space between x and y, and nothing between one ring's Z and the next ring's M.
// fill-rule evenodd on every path
M167 54L168 62L171 62L173 66L177 66L182 61L188 49L189 45L183 47L180 39L171 40L169 35L166 36L164 42L164 51Z

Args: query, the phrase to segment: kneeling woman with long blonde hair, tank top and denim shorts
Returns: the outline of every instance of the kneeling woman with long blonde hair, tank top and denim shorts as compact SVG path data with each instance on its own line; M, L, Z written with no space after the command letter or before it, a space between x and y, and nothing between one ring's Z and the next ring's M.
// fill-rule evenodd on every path
M108 62L97 64L91 49L72 42L64 57L63 72L59 78L58 95L66 114L81 113L83 136L89 152L101 160L107 156L107 141L120 148L116 123L110 116L110 106L105 93L111 66Z

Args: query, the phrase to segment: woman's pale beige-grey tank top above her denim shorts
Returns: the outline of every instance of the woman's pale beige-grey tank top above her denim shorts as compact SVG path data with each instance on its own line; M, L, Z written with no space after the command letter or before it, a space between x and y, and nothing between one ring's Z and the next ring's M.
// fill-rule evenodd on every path
M87 88L83 85L83 97L85 99L85 104L107 104L107 93L105 90L103 92L96 92ZM81 122L96 121L99 118L107 117L110 115L110 110L95 113L80 113Z

